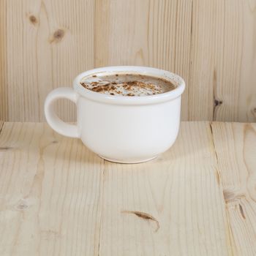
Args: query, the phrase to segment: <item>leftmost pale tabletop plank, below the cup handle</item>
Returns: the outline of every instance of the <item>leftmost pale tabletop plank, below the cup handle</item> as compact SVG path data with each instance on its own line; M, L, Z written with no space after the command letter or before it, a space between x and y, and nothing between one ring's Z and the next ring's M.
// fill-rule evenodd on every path
M0 135L0 255L98 255L103 160L46 124Z

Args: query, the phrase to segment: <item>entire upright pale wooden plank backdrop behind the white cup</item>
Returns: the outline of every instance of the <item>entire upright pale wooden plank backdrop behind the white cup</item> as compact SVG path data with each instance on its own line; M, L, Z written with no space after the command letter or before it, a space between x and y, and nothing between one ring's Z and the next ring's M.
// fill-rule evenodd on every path
M50 90L119 64L184 77L183 120L256 121L256 1L0 0L1 119L44 121Z

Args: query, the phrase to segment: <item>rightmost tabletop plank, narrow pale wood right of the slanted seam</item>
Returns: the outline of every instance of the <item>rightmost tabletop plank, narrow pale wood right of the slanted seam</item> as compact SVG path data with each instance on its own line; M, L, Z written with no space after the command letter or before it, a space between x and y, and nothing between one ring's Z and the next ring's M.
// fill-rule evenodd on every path
M256 125L211 127L235 255L256 255Z

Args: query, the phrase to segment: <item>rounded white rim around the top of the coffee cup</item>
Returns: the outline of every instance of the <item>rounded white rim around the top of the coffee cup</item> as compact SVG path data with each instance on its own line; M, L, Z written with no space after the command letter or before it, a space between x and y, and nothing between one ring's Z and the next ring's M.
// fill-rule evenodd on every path
M84 88L80 84L80 80L89 75L97 75L101 72L107 74L116 74L117 72L132 72L135 74L142 75L153 75L158 78L164 78L165 80L169 80L173 83L176 88L167 91L162 94L154 94L148 96L116 96L116 95L108 95L108 94L100 94L96 91L90 91L89 89ZM154 67L142 67L142 66L110 66L110 67L99 67L96 69L91 69L86 72L80 73L73 81L74 90L83 97L91 99L97 102L105 102L108 104L118 104L118 105L145 105L145 104L154 104L159 102L170 101L171 99L176 99L180 97L185 89L185 82L183 78L179 75L176 75L172 72L157 69Z

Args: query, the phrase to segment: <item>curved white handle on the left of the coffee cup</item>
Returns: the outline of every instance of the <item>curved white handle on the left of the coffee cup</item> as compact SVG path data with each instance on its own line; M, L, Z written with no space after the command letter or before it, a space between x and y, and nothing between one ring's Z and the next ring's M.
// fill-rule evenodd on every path
M53 110L53 102L57 99L69 99L75 104L78 102L78 94L69 87L60 87L50 91L45 99L45 118L52 129L61 135L79 138L78 127L62 121Z

